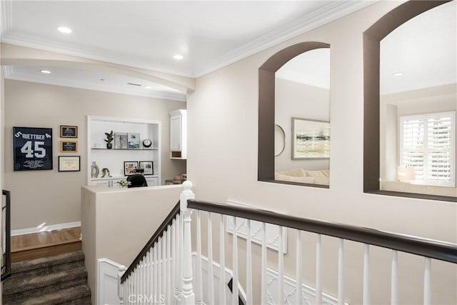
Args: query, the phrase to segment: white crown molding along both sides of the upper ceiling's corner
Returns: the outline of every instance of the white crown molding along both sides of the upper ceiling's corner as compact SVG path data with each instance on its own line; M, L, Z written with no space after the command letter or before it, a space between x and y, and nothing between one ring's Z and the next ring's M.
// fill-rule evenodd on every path
M148 69L176 76L184 76L189 78L198 78L206 74L221 69L224 66L233 64L236 61L245 59L248 56L263 51L277 44L281 44L288 39L292 39L300 34L316 29L318 26L328 24L338 18L346 16L370 6L381 0L361 0L361 1L333 1L326 6L307 14L289 24L279 27L271 33L258 37L253 41L243 44L242 46L230 51L216 59L216 61L207 64L204 67L197 68L195 71L182 71L178 69L169 69L165 66L151 65L148 59L134 58L135 56L127 56L113 51L95 48L86 48L84 46L69 44L51 39L41 39L36 36L20 34L11 31L12 27L12 11L11 0L2 0L2 35L1 41L6 44L14 44L18 46L26 46L44 51L52 51L59 54L83 57L86 59L94 59L97 61L106 61L113 64L121 64L132 66L140 69ZM132 59L134 58L134 59Z

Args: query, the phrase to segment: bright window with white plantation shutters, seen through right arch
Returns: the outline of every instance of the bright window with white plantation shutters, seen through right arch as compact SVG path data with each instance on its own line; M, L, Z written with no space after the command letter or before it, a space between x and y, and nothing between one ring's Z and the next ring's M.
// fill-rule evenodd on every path
M414 184L455 186L454 112L400 116L400 166L413 166Z

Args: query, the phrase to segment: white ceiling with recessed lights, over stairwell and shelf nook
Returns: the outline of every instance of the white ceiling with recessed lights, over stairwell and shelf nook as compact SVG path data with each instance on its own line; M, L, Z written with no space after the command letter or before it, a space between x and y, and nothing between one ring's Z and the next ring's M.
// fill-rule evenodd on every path
M2 0L1 41L195 78L373 2ZM62 34L59 26L73 32ZM184 59L174 59L175 54ZM186 99L185 92L141 79L64 68L42 75L41 69L46 67L9 66L5 76Z

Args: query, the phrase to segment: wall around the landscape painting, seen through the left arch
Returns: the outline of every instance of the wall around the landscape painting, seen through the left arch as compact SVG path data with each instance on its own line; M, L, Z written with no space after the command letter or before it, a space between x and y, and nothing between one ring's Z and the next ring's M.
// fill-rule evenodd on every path
M275 171L328 169L328 159L292 160L292 117L330 121L330 91L276 78L275 124L284 129L286 146L275 160Z

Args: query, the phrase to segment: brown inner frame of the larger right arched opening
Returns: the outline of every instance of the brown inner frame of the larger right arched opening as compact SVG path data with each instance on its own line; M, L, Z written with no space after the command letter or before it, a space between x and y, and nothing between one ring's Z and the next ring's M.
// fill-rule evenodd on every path
M364 135L363 135L363 191L371 193L379 193L394 196L409 196L424 199L436 199L456 201L455 196L448 195L447 193L431 194L426 191L402 191L401 189L395 191L380 191L380 180L383 176L395 176L397 165L401 165L396 160L395 166L390 166L388 173L387 169L383 168L381 159L386 159L385 155L381 155L381 140L386 139L384 129L381 129L381 41L386 38L393 31L398 29L407 21L414 19L414 17L429 11L441 4L446 4L450 1L408 1L401 6L398 6L393 11L379 19L373 26L363 33L363 76L364 76ZM454 17L455 18L455 17ZM433 21L432 19L428 22ZM421 34L419 34L421 35ZM446 39L446 38L443 38ZM439 46L430 46L439 47ZM398 53L400 50L398 50ZM412 57L412 54L411 54ZM409 59L413 61L413 59ZM423 62L418 62L417 65L421 66ZM383 66L385 69L385 67ZM382 80L382 81L381 81ZM454 81L455 82L455 81ZM384 92L385 93L385 92ZM385 116L385 114L384 114ZM400 120L395 117L391 119L391 124L400 124ZM399 129L398 129L399 130ZM381 134L384 134L381 139ZM395 134L400 139L400 134ZM392 139L392 137L391 137ZM398 141L391 141L396 145ZM386 145L386 144L383 144ZM398 144L398 146L400 146ZM394 151L391 156L400 159L398 151ZM453 156L455 159L455 155ZM400 171L400 169L398 169ZM384 172L384 173L383 173ZM418 188L419 189L419 188ZM450 194L450 193L449 193Z

